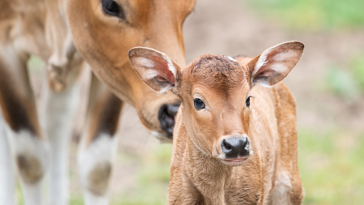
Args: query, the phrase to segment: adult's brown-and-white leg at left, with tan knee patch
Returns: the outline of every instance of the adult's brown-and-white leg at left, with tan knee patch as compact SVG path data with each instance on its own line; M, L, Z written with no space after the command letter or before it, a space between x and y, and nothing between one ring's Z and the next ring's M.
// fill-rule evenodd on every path
M25 205L41 204L41 180L49 164L49 147L41 134L29 83L27 54L12 46L0 50L0 106L12 156L20 175Z

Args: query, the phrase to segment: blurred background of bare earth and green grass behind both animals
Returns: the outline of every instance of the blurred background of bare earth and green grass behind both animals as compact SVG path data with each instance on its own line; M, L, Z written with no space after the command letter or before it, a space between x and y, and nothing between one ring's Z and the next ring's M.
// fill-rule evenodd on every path
M363 0L197 0L184 24L187 63L207 52L254 57L285 41L305 44L301 61L284 80L297 102L304 204L364 204L363 9ZM43 66L36 58L29 62L37 96ZM74 138L71 205L83 204L76 150ZM160 144L148 134L134 108L127 106L111 204L165 204L170 154L171 144ZM19 188L17 193L21 199Z

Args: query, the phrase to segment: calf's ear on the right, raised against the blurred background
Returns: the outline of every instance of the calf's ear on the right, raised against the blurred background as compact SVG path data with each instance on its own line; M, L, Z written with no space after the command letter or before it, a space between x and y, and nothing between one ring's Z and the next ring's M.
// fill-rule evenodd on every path
M283 80L301 59L304 44L289 41L268 48L246 66L250 71L250 87L260 84L271 87Z

